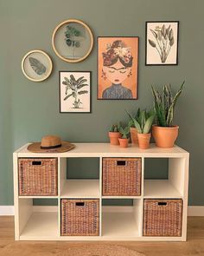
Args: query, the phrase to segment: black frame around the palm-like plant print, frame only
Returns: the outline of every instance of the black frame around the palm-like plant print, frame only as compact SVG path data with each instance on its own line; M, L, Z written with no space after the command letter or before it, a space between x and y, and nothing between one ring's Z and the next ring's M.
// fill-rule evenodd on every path
M90 96L89 96L89 104L90 108L89 111L61 111L61 73L63 72L69 72L69 73L89 73L90 77ZM59 71L59 108L60 108L60 113L61 114L90 114L92 113L92 71L79 71L79 70L60 70Z

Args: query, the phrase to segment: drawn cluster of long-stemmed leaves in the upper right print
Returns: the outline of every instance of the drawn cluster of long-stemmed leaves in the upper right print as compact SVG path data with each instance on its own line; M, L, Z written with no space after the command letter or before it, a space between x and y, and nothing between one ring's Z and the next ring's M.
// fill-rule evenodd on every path
M170 50L175 43L174 31L171 25L167 28L165 24L162 27L156 26L154 30L150 29L151 34L154 36L154 40L148 40L150 46L155 48L160 56L161 62L165 63L169 56Z

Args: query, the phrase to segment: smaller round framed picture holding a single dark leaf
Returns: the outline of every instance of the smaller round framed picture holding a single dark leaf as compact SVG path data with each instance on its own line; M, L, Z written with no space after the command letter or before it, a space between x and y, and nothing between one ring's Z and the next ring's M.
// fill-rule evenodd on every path
M44 51L34 49L22 58L22 73L33 82L41 82L48 78L53 63Z

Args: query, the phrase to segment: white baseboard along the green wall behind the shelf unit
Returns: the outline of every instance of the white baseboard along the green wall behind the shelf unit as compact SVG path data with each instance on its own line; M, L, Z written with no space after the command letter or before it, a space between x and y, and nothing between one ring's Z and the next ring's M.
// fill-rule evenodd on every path
M35 212L41 212L41 211L47 212L55 212L57 211L57 207L41 207L41 206L35 206L34 211ZM115 211L121 210L121 207L114 207ZM0 206L0 216L12 216L14 215L14 206ZM204 206L193 206L188 207L188 216L204 216Z

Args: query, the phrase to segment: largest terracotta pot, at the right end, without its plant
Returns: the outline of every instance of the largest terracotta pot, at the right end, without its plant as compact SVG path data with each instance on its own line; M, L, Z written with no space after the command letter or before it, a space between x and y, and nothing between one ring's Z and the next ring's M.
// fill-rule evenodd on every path
M175 145L175 140L178 137L179 127L159 127L152 126L152 135L156 141L156 146L160 148L172 148Z

